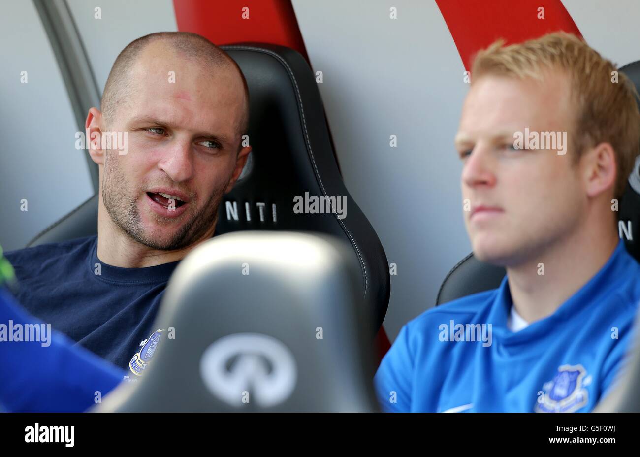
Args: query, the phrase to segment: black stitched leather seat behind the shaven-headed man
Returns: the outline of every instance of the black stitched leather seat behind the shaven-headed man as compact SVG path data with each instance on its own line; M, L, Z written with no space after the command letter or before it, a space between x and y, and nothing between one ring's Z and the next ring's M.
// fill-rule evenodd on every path
M387 312L387 257L366 216L349 195L335 159L324 108L307 61L292 49L266 44L223 46L250 91L251 163L220 205L216 235L236 230L313 230L337 236L353 250L362 293L376 328ZM296 214L294 197L345 196L346 217ZM97 232L97 195L48 227L29 246Z

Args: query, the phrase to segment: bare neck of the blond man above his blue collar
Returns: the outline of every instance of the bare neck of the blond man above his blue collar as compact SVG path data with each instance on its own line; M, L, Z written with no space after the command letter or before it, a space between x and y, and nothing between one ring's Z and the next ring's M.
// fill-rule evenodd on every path
M518 314L529 323L554 314L600 271L618 241L614 230L603 234L582 230L527 262L508 266L511 299Z

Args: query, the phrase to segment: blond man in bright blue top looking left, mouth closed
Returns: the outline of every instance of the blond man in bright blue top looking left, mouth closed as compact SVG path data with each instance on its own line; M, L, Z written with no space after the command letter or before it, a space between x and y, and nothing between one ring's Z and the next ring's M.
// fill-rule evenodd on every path
M640 266L617 200L639 153L637 93L582 40L479 52L455 145L477 259L498 289L403 327L376 374L386 411L585 412L632 339Z

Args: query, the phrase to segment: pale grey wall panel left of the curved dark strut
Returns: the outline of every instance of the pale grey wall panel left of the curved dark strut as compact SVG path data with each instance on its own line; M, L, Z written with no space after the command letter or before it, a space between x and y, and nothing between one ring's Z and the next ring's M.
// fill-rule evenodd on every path
M0 243L21 248L93 195L76 120L31 1L0 2ZM26 71L28 82L20 82ZM27 200L28 211L20 211Z

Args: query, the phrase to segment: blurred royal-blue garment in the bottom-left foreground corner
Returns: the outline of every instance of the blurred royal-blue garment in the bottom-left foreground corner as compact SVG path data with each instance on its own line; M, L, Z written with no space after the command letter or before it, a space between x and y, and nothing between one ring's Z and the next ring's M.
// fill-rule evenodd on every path
M83 412L124 376L28 316L0 285L0 410Z

